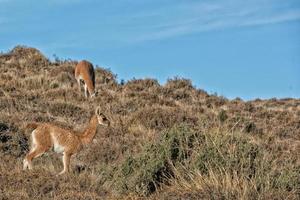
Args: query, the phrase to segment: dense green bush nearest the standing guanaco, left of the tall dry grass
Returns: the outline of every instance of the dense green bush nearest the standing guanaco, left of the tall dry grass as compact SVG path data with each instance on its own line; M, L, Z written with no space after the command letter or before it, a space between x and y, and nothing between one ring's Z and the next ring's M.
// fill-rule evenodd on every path
M195 133L185 126L163 132L161 138L146 145L136 157L129 156L116 177L117 188L142 196L174 176L173 167L190 155Z

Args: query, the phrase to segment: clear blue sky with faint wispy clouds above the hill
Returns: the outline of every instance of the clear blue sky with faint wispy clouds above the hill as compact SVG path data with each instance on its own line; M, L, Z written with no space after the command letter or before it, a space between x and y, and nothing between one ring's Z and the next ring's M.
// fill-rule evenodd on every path
M299 0L0 0L0 51L180 76L228 98L300 98Z

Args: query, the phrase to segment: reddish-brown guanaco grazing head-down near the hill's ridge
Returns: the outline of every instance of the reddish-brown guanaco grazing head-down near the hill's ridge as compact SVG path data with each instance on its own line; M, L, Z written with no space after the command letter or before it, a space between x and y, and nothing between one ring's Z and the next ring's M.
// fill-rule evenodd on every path
M75 79L78 83L79 93L81 92L81 81L84 84L84 95L87 98L96 96L95 92L95 71L93 64L82 60L75 67Z

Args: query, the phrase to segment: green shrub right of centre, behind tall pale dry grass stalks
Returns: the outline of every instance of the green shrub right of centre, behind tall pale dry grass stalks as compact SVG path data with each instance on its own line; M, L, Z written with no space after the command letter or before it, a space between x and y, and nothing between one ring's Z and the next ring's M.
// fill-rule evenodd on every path
M255 176L262 157L260 148L246 137L235 135L205 134L198 147L195 166L203 174L209 170L238 173L246 178Z

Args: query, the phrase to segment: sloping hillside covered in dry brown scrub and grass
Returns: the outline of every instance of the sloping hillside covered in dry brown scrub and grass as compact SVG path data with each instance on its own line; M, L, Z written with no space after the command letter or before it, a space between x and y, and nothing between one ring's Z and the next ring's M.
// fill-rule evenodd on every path
M300 100L228 100L174 78L118 83L96 69L85 99L76 61L34 48L0 54L0 199L299 199ZM201 78L201 77L199 77ZM49 152L22 171L28 122L82 130L100 106L111 121L56 177Z

